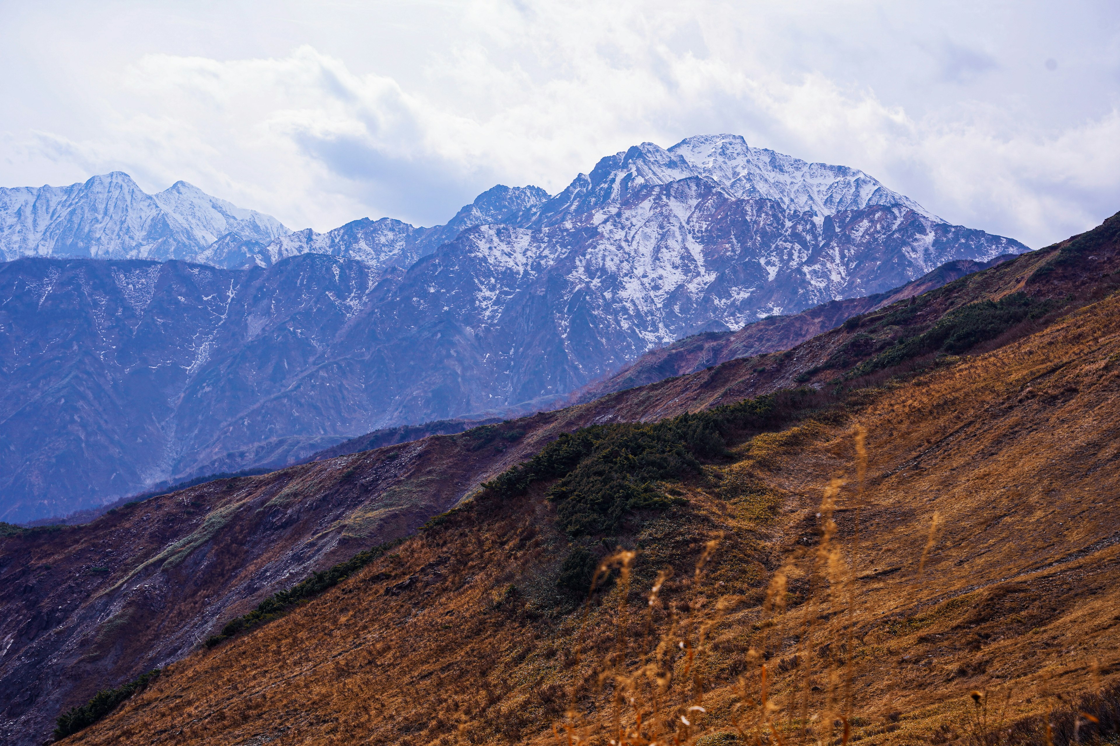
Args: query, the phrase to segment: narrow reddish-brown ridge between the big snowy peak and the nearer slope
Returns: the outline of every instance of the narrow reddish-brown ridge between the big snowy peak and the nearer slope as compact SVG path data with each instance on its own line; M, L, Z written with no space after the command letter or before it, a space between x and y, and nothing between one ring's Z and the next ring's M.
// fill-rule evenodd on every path
M738 331L703 332L687 337L659 350L646 352L620 371L597 384L584 387L572 396L577 403L590 402L610 391L697 372L736 358L749 358L766 352L781 352L822 332L836 329L851 317L875 311L927 291L941 287L964 275L987 270L1015 255L997 256L990 262L956 259L902 287L867 298L852 298L822 303L801 313L769 317L747 324Z

